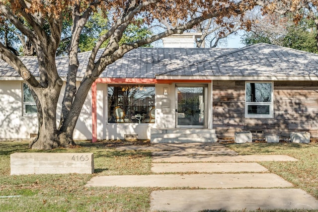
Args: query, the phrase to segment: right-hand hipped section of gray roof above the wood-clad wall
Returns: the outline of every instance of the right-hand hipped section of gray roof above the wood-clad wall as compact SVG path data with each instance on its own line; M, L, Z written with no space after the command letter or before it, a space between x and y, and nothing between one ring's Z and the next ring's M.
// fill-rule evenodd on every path
M318 76L318 54L260 43L161 75Z

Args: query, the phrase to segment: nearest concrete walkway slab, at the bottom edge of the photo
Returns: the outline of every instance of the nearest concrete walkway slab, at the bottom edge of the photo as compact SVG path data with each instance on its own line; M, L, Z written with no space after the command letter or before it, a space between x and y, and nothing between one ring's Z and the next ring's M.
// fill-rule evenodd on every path
M151 211L317 210L318 201L301 189L165 190L151 194Z

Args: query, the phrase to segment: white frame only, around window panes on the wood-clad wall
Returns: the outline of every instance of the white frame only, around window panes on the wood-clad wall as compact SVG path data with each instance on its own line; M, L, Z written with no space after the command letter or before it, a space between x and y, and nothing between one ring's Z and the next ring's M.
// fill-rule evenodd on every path
M271 83L271 102L247 102L246 86L247 83ZM245 81L245 118L274 118L274 82L273 81ZM248 114L249 105L268 105L269 114Z

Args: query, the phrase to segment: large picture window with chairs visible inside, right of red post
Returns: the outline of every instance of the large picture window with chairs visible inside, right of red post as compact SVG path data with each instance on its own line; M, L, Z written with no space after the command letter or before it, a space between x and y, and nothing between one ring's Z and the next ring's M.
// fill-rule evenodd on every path
M108 123L155 123L155 85L108 85Z

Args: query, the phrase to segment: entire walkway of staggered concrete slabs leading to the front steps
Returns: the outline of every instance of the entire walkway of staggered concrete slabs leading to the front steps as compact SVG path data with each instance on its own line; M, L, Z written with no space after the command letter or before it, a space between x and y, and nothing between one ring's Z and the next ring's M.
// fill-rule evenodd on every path
M286 155L238 155L219 143L156 144L118 149L151 150L152 171L161 174L97 176L86 186L191 188L152 192L152 212L318 210L318 200L314 197L303 190L292 188L291 183L255 163L297 161ZM193 174L188 174L191 172Z

